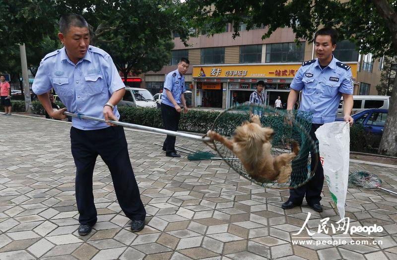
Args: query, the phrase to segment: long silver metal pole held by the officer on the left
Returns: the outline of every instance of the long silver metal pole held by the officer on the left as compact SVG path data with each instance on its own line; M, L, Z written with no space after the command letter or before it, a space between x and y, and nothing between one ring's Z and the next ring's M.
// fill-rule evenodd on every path
M187 133L182 133L182 132L170 131L170 130L154 128L154 127L149 127L149 126L144 126L144 125L135 125L135 124L124 123L124 122L113 121L113 120L106 121L105 119L102 119L102 118L83 115L83 114L74 114L74 113L70 113L70 112L64 112L64 114L71 116L71 117L95 120L95 121L104 122L104 123L111 123L111 124L115 124L115 125L125 126L128 128L145 130L145 131L149 131L149 132L160 133L160 134L165 134L165 135L172 135L172 136L177 136L177 137L183 137L183 138L188 138L188 139L201 141L201 142L210 142L211 141L211 139L209 137L203 137L203 136L199 136L199 135L192 135L192 134L187 134Z

